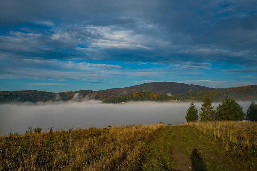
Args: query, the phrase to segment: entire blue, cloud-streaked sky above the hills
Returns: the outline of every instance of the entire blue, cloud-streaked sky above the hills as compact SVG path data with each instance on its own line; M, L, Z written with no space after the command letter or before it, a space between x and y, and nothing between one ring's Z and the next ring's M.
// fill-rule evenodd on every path
M0 1L0 90L257 84L257 2Z

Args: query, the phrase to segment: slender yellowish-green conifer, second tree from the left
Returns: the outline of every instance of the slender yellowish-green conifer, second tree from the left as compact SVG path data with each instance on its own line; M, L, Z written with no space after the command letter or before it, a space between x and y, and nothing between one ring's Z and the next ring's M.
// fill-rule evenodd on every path
M201 110L199 114L201 122L213 120L214 106L212 106L212 99L210 98L210 96L205 95L203 101L204 103L201 104Z

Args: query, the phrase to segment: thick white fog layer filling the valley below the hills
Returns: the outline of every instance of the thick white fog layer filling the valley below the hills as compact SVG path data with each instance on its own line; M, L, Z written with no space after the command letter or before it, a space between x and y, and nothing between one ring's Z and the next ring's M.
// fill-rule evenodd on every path
M9 132L23 134L28 126L39 126L45 131L78 129L89 126L186 123L189 102L126 102L103 104L101 101L68 101L51 103L20 103L0 105L0 135ZM217 107L220 103L213 103ZM246 112L251 101L239 101ZM195 106L200 110L201 102Z

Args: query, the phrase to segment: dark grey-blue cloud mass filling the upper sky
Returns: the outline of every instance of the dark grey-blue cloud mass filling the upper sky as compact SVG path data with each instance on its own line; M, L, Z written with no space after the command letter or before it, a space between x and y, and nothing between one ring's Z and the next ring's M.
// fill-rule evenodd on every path
M1 47L45 58L256 65L256 7L255 1L2 1L2 26L20 20L51 31L10 29Z

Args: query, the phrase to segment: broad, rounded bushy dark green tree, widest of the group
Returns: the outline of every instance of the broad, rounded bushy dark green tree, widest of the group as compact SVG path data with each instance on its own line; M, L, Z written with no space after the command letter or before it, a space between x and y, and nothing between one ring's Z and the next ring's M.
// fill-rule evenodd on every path
M223 99L216 109L216 120L244 120L246 113L243 107L232 98Z

